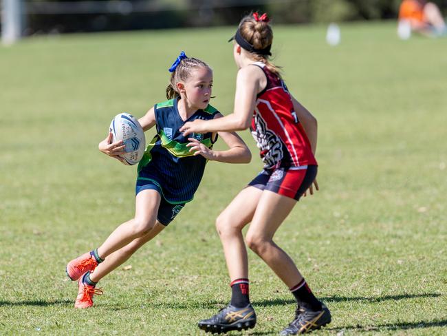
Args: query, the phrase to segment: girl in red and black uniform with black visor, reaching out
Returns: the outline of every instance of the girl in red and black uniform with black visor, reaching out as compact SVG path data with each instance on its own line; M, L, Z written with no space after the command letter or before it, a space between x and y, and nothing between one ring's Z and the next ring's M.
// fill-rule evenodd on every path
M199 322L210 332L252 328L256 315L248 297L246 243L290 288L298 308L281 335L307 333L331 321L331 314L307 286L285 251L273 241L283 220L306 192L313 194L317 123L288 92L279 69L269 61L272 28L266 14L254 13L239 23L233 54L239 68L234 113L214 120L194 120L180 129L192 133L236 131L250 127L261 151L264 169L217 218L230 273L232 298L217 315Z

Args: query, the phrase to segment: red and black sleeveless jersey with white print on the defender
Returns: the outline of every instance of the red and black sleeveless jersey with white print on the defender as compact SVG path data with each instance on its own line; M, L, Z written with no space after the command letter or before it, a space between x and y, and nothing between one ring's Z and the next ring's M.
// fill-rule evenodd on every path
M257 95L250 127L264 167L317 165L284 81L268 70L264 63L253 65L261 67L267 78L265 89Z

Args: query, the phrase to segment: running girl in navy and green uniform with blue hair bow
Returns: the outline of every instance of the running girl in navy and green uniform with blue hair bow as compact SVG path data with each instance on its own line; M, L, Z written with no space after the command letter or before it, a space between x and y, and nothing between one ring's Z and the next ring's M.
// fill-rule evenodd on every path
M138 120L144 131L155 126L157 134L138 165L135 217L121 224L97 249L67 264L67 275L78 280L76 308L93 306L94 294L102 294L96 283L160 233L193 199L208 160L228 163L251 160L250 150L233 132L205 132L188 137L179 132L188 121L222 115L209 104L212 70L206 63L188 58L182 52L169 71L172 74L166 89L168 101L155 104ZM229 149L212 150L218 136ZM109 134L100 142L100 151L121 160L122 141L111 141Z

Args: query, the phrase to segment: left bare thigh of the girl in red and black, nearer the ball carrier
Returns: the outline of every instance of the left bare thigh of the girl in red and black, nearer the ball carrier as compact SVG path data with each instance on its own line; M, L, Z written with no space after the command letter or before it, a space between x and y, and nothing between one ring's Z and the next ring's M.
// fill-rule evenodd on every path
M228 204L217 218L217 225L230 224L233 228L242 229L252 221L263 191L256 187L246 187Z

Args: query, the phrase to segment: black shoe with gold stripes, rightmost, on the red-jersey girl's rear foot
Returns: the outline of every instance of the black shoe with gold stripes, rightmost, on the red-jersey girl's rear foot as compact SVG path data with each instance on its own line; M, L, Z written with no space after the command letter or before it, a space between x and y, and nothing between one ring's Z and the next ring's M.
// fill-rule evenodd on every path
M331 322L331 312L322 304L321 311L312 311L312 309L301 306L296 309L295 319L279 335L298 335L310 333L329 324Z

